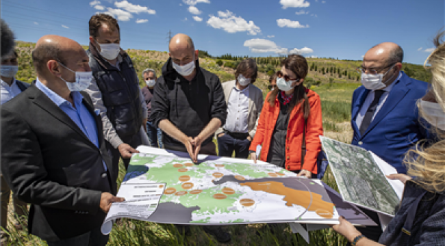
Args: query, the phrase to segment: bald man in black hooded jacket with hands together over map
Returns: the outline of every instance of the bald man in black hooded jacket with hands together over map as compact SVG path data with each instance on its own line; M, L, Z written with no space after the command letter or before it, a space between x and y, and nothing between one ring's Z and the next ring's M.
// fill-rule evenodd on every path
M190 37L177 34L168 49L170 58L157 79L149 120L166 133L164 148L188 152L197 163L198 154L216 155L212 137L227 117L223 87L215 74L199 67L199 51ZM219 226L203 229L220 242L231 240Z

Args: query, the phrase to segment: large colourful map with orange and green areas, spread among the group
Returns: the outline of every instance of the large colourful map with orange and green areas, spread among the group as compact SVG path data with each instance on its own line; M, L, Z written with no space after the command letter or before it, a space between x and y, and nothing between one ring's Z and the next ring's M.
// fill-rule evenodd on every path
M333 224L338 223L340 211L346 219L374 224L358 208L325 189L320 180L296 177L275 165L218 156L200 156L195 165L187 153L149 147L138 150L121 184L120 191L125 192L118 193L126 202L113 204L105 221L131 217L189 225ZM138 204L145 206L136 209Z

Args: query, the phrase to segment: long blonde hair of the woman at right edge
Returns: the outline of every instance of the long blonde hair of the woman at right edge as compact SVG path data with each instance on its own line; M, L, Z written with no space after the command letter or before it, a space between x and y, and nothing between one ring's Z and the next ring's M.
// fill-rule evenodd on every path
M445 31L434 39L436 49L424 62L424 67L431 71L431 87L435 100L445 112ZM429 116L419 108L423 118ZM418 143L416 150L410 150L405 156L408 175L414 177L414 182L429 191L441 193L445 191L445 132L431 126L437 134L437 141L424 148L424 141Z

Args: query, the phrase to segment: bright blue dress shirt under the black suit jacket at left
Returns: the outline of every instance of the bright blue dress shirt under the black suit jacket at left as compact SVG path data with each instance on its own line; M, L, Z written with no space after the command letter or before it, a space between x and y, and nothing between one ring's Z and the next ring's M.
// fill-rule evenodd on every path
M73 105L71 105L71 102L68 102L67 100L62 98L62 96L55 94L55 92L42 84L38 79L36 79L36 87L38 87L39 90L47 95L49 99L51 99L55 103L55 105L58 105L58 107L60 107L60 109L62 109L62 111L64 111L64 113L66 113L66 115L68 115L77 126L79 126L86 137L88 137L88 139L90 139L90 141L94 143L97 148L99 148L96 122L94 121L94 118L91 115L90 111L88 111L88 109L82 103L84 96L82 96L80 92L71 92L74 105L76 106L74 108ZM105 162L102 161L102 163L105 171L107 171Z

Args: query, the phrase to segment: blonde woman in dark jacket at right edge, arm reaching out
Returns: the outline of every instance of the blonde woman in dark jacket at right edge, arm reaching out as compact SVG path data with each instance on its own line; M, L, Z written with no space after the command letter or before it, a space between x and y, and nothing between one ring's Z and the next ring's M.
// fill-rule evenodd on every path
M408 153L405 159L408 176L390 176L405 182L405 191L401 206L381 235L379 243L362 236L344 218L340 218L339 225L332 227L345 236L351 245L445 245L444 36L445 31L435 38L437 48L425 61L425 64L431 64L431 88L418 102L420 114L437 130L439 140L428 148L418 146L417 150Z

